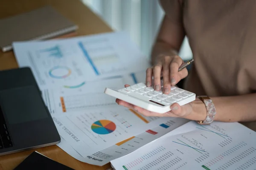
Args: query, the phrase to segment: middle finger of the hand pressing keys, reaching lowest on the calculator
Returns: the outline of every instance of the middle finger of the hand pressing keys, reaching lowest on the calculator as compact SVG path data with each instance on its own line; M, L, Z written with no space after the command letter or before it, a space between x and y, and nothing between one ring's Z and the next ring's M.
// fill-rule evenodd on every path
M170 63L172 59L169 56L164 57L164 65L163 65L163 93L169 94L171 89L170 83Z

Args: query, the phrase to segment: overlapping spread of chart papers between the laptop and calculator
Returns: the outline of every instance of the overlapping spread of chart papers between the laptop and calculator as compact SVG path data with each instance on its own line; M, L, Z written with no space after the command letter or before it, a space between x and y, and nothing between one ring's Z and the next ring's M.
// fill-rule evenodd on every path
M104 165L187 122L144 117L103 93L145 81L149 61L125 33L13 47L19 66L32 69L61 136L58 146L80 161Z

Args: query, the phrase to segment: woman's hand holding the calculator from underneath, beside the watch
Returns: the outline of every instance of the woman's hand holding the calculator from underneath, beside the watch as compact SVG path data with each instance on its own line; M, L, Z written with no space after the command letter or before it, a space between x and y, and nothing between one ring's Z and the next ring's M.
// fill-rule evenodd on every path
M130 85L125 85L128 87ZM180 106L177 103L171 105L171 111L166 113L156 113L140 108L136 105L132 105L128 102L116 99L118 105L123 105L127 108L134 109L135 111L143 114L144 116L158 116L158 117L181 117L190 120L204 120L206 117L206 108L204 103L200 99L196 99L186 105Z

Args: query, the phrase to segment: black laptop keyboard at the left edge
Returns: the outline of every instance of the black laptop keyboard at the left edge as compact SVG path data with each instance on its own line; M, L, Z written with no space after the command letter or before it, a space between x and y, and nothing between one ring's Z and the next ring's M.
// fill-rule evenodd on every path
M6 122L3 117L3 111L0 106L0 149L12 146L12 140L9 135L9 131L7 129Z

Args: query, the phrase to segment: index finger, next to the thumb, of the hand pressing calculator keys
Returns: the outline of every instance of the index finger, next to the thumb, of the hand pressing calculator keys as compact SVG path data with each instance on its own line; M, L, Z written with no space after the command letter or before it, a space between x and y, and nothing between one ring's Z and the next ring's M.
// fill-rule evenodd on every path
M171 85L174 86L177 84L177 77L178 77L178 69L180 65L183 63L183 60L179 56L175 56L172 59L170 64L170 78L171 78Z

